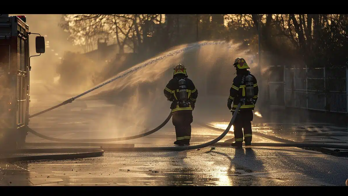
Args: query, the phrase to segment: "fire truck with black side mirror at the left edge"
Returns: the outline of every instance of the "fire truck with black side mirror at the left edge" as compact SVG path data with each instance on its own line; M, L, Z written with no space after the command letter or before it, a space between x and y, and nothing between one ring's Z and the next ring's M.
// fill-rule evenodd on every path
M31 33L25 16L0 14L0 146L22 148L29 126L30 51L29 35L36 53L45 53L45 38Z

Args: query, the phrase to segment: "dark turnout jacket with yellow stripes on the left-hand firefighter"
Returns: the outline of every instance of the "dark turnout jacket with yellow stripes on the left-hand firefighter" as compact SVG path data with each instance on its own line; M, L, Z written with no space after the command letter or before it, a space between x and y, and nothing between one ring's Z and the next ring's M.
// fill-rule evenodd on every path
M179 80L181 79L184 79L186 81L188 101L190 102L188 107L180 107L177 104L177 101L179 99ZM192 80L190 80L188 77L173 77L173 79L170 80L164 88L164 95L167 97L169 101L172 101L172 112L180 110L193 110L195 108L196 99L198 97L198 90L196 89L196 86L195 84L193 84Z

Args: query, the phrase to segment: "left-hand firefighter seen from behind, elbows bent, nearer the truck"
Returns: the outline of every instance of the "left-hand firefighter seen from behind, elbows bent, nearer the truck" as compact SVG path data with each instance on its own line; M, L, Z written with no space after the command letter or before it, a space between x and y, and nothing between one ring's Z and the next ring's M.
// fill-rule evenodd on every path
M188 78L182 64L175 66L173 78L164 88L167 100L172 101L172 121L175 127L175 145L190 145L192 111L195 108L198 91Z

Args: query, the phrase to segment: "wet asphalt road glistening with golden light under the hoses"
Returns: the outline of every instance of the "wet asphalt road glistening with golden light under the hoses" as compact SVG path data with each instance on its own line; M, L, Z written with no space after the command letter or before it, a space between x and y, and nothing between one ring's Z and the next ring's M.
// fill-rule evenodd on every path
M110 138L135 135L144 127L127 124L127 133L120 131L96 131L98 111L113 107L106 103L88 102L88 106L71 107L51 111L35 117L31 127L38 132L57 138ZM94 107L95 106L95 107ZM46 106L42 106L46 109ZM40 111L42 108L34 108ZM79 115L81 110L84 116ZM86 118L89 115L91 118ZM93 118L92 118L93 117ZM158 119L158 124L163 119ZM211 122L223 128L224 122ZM315 126L298 123L289 125L261 123L255 121L253 131L288 137L293 141L347 142L343 128L329 124ZM124 128L125 128L124 127ZM316 131L311 131L311 130ZM124 130L124 129L122 129ZM332 132L336 131L336 132ZM192 124L191 145L211 141L223 130L217 131ZM326 133L327 135L320 135ZM330 135L331 134L331 135ZM333 136L341 134L341 136ZM329 136L328 136L329 135ZM338 140L334 140L336 138ZM233 138L230 132L223 141ZM322 139L321 139L322 138ZM140 146L172 146L175 132L171 121L156 132L144 138L120 141ZM51 142L29 133L27 142ZM277 142L253 136L253 142ZM343 143L342 143L343 144ZM348 158L335 157L321 152L300 148L253 147L236 149L215 146L215 149L181 152L106 152L97 158L39 161L2 164L0 186L345 186L348 178ZM20 168L19 168L20 167Z

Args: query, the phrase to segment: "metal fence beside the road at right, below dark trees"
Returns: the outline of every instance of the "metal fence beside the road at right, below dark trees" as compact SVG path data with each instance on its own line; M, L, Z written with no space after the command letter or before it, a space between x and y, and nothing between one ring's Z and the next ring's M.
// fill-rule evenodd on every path
M284 75L284 78L281 81L279 78L275 80L270 77L271 105L338 113L348 112L348 69L346 67L272 66L272 69L274 74ZM274 89L273 92L272 89ZM284 96L281 95L282 92L284 92Z

